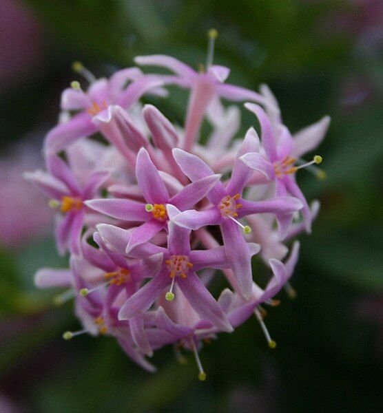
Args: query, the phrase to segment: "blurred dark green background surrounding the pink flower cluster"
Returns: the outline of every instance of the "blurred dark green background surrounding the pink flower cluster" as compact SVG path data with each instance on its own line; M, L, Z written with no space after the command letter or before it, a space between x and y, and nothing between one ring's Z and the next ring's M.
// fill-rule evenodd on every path
M99 76L138 54L172 54L197 67L209 28L219 32L214 60L231 67L229 81L253 89L268 83L291 131L332 118L319 150L327 179L299 176L322 209L313 235L300 237L298 297L280 293L282 304L267 317L278 347L267 348L249 319L205 346L207 381L200 383L193 359L178 364L172 348L155 355L153 375L113 339L65 342L61 332L79 328L72 304L54 307L55 292L32 281L40 266L65 260L41 231L10 240L14 226L1 226L1 412L383 411L381 0L1 0L3 225L41 214L34 198L14 200L16 184L5 182L23 165L20 152L41 165L61 89L76 78L72 61ZM154 101L178 123L180 96ZM252 121L244 114L242 132ZM12 217L12 202L27 204L26 212Z

